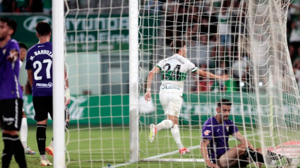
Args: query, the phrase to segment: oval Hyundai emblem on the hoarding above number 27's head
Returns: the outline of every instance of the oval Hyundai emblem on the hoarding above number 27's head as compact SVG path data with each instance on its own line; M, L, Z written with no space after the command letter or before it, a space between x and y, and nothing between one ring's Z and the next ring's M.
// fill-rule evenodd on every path
M35 25L37 24L37 22L39 21L45 21L47 23L49 23L51 25L52 20L51 18L47 17L47 16L32 16L30 18L27 18L24 23L23 26L26 30L30 31L30 32L36 32L35 31Z

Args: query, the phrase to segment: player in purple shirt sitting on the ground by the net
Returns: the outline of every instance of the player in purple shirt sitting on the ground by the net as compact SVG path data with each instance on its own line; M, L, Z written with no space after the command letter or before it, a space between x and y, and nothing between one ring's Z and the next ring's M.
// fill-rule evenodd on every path
M246 167L250 162L264 163L261 148L254 149L241 135L234 122L229 120L232 103L227 99L217 102L217 114L203 124L200 152L208 167ZM229 148L229 135L240 144ZM282 155L267 151L268 161L278 160Z

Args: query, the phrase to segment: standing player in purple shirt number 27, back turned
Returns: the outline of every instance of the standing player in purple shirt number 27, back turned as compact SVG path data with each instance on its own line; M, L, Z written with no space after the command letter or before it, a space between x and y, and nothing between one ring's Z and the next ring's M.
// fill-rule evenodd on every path
M32 87L32 102L37 121L37 146L40 151L41 165L48 166L52 163L47 159L46 152L53 155L53 148L46 148L48 113L51 117L53 114L51 26L47 22L40 21L35 26L35 30L40 41L28 50L25 68L28 70L28 80ZM65 104L67 105L70 102L67 79L65 90L67 92Z

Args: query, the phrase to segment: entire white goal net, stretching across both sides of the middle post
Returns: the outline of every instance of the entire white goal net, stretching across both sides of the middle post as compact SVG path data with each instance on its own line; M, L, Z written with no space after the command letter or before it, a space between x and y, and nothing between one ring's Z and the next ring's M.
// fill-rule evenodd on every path
M65 0L72 95L67 166L205 167L202 126L222 98L232 102L229 119L254 148L299 158L299 89L287 46L290 3ZM151 101L144 99L149 71L173 55L175 39L185 40L186 58L198 68L231 76L222 81L186 74L179 134L191 152L183 156L169 129L148 140L150 124L166 117L160 103L163 67L153 78ZM229 138L230 147L238 144ZM265 160L267 167L290 164Z

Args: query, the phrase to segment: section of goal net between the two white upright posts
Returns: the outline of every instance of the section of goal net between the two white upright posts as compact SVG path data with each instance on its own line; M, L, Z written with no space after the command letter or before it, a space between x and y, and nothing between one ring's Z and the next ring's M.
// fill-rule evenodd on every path
M68 167L129 160L128 1L65 1Z

